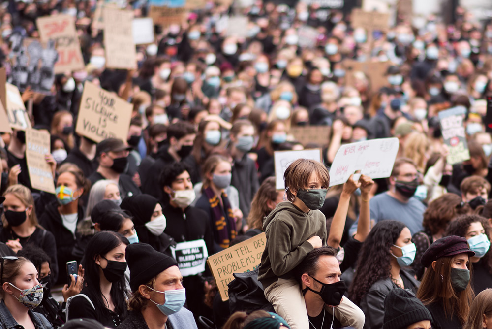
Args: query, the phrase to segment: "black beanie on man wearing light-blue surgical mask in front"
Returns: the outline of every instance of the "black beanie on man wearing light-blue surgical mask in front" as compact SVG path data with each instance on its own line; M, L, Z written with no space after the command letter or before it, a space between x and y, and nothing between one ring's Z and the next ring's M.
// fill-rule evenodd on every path
M147 243L132 243L126 246L126 263L130 269L130 288L135 292L171 266L178 266L174 258L155 251Z

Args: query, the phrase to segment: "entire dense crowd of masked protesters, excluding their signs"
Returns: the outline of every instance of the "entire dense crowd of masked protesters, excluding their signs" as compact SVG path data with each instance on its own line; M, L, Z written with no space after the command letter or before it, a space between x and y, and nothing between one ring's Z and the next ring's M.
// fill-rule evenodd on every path
M2 3L7 81L16 40L39 37L43 16L74 17L85 62L51 93L19 86L31 126L51 135L55 194L32 187L26 132L0 135L2 328L492 328L491 20L458 6L366 31L350 12L289 5L190 8L122 70L106 67L95 0ZM227 31L238 15L247 36ZM126 140L75 132L86 81L131 104ZM453 164L438 113L455 106L469 159ZM314 126L326 135L292 133ZM329 188L341 145L385 137L399 141L390 177ZM294 161L277 190L274 152L316 148L322 162ZM232 288L222 300L208 265L179 268L180 243L213 255L263 232L247 307Z

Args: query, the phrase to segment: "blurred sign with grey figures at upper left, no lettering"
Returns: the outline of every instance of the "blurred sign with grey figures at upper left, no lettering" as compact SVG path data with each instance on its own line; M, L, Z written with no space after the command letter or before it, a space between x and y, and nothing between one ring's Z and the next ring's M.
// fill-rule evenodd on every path
M16 34L11 38L12 65L11 80L20 91L29 86L37 93L50 95L55 83L55 63L58 61L58 52L55 41L40 42L37 39L24 38Z

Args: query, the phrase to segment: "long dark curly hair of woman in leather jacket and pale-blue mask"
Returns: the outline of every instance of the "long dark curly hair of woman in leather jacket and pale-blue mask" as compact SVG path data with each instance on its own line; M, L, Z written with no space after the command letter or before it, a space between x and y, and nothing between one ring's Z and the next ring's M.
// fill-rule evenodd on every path
M399 221L378 222L370 231L359 252L359 263L348 292L350 300L359 305L370 287L390 276L390 248L406 226Z

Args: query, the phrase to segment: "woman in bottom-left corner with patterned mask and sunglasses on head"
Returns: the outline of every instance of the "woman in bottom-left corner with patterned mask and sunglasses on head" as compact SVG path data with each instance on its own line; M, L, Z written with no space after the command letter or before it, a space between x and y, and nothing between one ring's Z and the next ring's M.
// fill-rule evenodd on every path
M46 318L32 309L43 300L36 267L24 257L5 256L0 269L0 324L2 329L51 329Z

